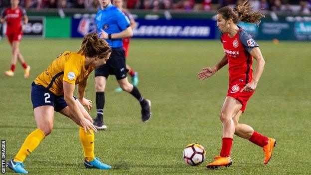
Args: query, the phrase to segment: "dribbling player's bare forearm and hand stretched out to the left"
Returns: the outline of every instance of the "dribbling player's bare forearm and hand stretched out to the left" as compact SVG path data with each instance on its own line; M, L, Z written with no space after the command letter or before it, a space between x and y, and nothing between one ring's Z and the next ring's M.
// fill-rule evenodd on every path
M228 58L226 55L222 57L222 59L213 67L204 67L202 71L197 73L197 77L200 80L205 80L206 78L214 75L219 69L228 64Z

